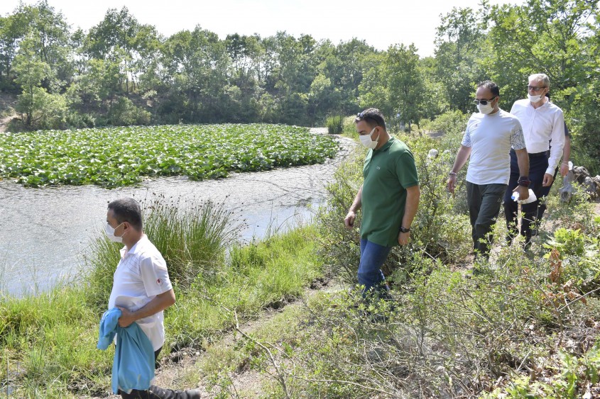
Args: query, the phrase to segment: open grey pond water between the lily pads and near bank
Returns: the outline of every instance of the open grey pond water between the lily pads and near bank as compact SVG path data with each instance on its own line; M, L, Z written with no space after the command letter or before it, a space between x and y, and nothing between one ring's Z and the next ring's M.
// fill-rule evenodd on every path
M263 237L271 226L293 226L295 215L310 218L326 201L325 184L353 142L341 137L342 151L325 164L234 174L227 179L190 181L170 177L138 187L57 186L29 189L0 181L0 291L12 296L48 290L58 279L76 279L86 268L82 254L104 234L107 204L124 196L138 201L155 195L223 202L246 219L242 240ZM343 223L340 221L340 223Z

